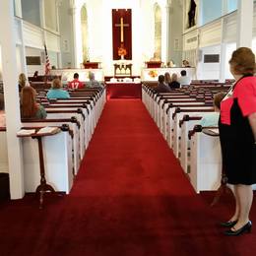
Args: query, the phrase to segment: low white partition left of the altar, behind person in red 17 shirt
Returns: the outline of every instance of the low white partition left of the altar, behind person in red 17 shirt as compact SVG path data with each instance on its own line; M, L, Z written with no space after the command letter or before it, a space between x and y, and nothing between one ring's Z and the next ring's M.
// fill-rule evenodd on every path
M61 76L62 81L72 81L74 74L79 74L79 80L82 82L89 81L89 73L95 74L96 81L104 81L104 74L102 69L51 69L51 76Z

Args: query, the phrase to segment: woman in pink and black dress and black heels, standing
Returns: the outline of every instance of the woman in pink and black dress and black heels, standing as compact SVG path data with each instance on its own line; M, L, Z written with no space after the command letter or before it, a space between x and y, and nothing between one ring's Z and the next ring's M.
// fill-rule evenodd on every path
M221 104L220 138L227 182L233 184L235 211L228 222L226 235L250 231L249 213L256 183L256 77L255 55L251 49L236 49L229 60L235 79L232 96Z

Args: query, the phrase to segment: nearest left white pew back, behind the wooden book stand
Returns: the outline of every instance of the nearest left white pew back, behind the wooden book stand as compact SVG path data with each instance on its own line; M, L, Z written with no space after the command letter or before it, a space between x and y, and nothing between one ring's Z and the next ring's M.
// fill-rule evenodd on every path
M38 126L27 127L37 129ZM40 127L41 128L41 127ZM55 191L69 194L73 185L72 133L68 126L62 132L42 138L45 178ZM26 129L26 128L25 128ZM25 191L35 192L40 184L40 168L37 140L22 137Z

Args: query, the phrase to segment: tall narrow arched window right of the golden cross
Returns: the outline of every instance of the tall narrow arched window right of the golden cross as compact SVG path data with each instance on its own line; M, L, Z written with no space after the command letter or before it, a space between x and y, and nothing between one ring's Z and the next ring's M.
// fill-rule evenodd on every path
M160 6L155 6L155 52L161 58L161 12Z

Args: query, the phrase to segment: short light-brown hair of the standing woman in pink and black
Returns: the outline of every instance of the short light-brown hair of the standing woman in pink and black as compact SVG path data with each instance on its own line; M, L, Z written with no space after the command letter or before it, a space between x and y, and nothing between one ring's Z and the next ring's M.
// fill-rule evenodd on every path
M255 55L247 47L240 47L233 51L229 64L235 75L253 75L256 71Z

